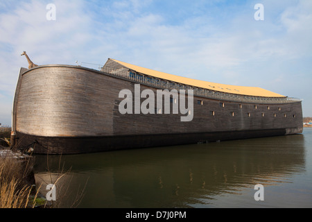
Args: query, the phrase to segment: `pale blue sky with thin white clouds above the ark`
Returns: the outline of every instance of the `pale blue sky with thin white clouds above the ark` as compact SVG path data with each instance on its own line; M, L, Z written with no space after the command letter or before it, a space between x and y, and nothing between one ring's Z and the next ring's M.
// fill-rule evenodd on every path
M55 4L55 20L46 5ZM264 6L264 20L254 6ZM312 1L1 1L0 123L10 125L22 51L37 65L134 65L303 99L312 117Z

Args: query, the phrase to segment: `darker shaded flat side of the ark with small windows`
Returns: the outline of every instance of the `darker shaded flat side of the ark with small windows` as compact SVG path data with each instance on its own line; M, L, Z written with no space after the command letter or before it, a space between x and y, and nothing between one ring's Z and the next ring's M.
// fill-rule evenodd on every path
M130 85L135 96L135 84ZM153 87L140 86L157 92ZM121 114L119 103L114 106L114 135L144 135L159 133L204 133L232 130L263 130L302 128L301 102L285 104L257 104L218 101L198 96L193 97L193 119L182 122L180 117L186 114ZM135 105L135 99L133 99ZM140 104L146 99L141 98ZM156 99L155 99L156 101ZM180 101L177 101L179 103ZM157 104L155 104L155 108ZM164 104L162 106L164 108ZM295 132L295 130L294 130ZM300 133L297 130L296 133Z

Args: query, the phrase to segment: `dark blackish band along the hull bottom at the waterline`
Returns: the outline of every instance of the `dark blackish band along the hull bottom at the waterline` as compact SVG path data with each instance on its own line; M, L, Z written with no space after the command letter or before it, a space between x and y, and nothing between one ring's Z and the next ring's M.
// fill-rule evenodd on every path
M23 144L31 144L29 148L34 148L35 153L49 153L52 155L62 153L94 153L157 146L175 146L280 135L286 135L286 129L112 137L38 137L17 133L17 137L19 137Z

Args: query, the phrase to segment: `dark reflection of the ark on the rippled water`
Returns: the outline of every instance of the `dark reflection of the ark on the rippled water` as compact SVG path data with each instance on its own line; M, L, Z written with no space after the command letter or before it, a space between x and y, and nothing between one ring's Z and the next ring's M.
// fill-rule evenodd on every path
M72 184L92 177L87 207L190 207L258 183L279 184L305 171L304 155L304 135L291 135L62 158L72 167ZM58 166L58 157L53 161ZM44 160L37 162L42 173ZM98 203L87 197L94 191Z

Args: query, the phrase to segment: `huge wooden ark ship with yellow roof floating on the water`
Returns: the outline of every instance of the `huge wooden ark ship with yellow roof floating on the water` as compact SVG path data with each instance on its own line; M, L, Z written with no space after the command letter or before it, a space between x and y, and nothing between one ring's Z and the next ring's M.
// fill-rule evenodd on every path
M121 114L122 89L133 102L150 89L193 96L185 114ZM178 103L170 99L171 108ZM165 101L162 102L162 105ZM135 109L135 108L133 108ZM12 110L12 144L34 153L73 154L196 144L302 133L302 102L259 87L209 83L114 59L101 71L74 65L21 68Z

